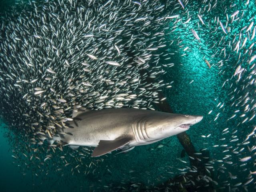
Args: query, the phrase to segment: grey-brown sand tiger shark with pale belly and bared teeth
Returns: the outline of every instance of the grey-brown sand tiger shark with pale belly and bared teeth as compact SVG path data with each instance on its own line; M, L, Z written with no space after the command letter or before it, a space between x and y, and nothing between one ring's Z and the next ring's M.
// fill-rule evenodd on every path
M152 144L179 134L202 120L203 116L174 114L135 108L102 110L74 110L72 121L58 130L54 141L69 145L95 147L92 157L121 149L124 152L135 146Z

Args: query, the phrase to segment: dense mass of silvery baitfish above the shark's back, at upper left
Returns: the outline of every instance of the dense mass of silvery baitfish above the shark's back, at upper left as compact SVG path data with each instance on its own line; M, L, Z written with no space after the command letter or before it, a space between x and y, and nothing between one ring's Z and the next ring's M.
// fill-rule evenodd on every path
M30 2L10 14L1 30L4 119L26 126L26 132L48 130L50 136L55 126L64 126L75 104L147 108L158 102L156 89L164 84L144 79L164 72L153 51L166 46L165 39L150 33L160 28L156 18L150 18L154 27L141 29L144 13L131 14L130 3ZM149 67L148 74L140 74ZM8 110L14 101L18 104Z

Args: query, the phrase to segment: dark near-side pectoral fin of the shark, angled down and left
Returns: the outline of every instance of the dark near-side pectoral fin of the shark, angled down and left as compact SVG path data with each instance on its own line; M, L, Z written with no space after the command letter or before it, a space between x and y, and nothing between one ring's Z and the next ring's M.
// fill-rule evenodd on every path
M92 152L92 157L98 157L112 152L132 141L132 137L116 138L115 140L100 140L98 146Z

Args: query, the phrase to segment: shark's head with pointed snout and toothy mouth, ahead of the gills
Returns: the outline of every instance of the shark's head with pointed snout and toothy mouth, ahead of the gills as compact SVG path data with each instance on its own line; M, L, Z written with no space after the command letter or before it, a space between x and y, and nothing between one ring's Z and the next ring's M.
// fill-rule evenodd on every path
M145 131L150 140L161 140L188 130L202 118L203 116L164 113L147 118Z

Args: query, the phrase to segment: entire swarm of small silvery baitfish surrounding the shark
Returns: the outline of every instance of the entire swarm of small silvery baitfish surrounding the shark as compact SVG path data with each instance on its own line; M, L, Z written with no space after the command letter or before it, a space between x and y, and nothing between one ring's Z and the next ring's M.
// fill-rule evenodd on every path
M72 175L82 189L99 191L254 191L255 15L249 0L17 2L0 22L0 113L15 133L8 137L22 172L33 170L49 183L50 174L63 183ZM192 166L166 162L158 184L138 166L121 174L114 158L90 159L90 148L72 151L44 142L65 127L74 105L154 109L164 100L159 92L172 87L165 75L177 57L200 57L199 69L208 70L202 81L216 74L222 94L206 113L219 135L196 135L211 142L187 158L196 162ZM207 149L210 158L203 156ZM102 169L120 183L98 180ZM167 180L170 174L178 176Z

